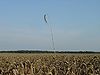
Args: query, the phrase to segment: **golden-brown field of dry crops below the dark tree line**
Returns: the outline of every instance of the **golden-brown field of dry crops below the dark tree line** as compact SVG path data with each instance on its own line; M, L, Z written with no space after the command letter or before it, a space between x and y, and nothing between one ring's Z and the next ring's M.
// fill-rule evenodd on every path
M0 53L0 75L100 75L100 54Z

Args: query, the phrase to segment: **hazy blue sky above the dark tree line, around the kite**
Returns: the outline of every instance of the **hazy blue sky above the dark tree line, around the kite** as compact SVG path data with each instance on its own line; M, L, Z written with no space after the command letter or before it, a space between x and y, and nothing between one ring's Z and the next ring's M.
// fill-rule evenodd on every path
M100 0L0 0L0 50L100 51Z

